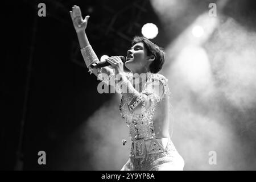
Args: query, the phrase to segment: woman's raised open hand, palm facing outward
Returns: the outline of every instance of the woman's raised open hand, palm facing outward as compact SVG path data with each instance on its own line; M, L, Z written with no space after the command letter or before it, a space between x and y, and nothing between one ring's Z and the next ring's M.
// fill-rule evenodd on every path
M72 7L72 11L69 11L69 13L76 32L85 31L90 16L86 16L85 19L82 19L80 7L76 5Z

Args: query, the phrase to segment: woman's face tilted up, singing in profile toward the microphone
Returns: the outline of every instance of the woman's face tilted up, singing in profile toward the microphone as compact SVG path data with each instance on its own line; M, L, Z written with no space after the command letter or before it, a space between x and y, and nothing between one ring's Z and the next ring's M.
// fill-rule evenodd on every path
M148 69L150 61L147 61L147 50L142 42L134 44L131 49L127 51L125 66L132 72Z

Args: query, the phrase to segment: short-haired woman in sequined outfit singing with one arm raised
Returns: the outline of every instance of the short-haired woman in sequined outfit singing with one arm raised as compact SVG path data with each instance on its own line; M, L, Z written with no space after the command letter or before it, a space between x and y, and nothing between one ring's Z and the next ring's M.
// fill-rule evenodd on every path
M119 56L106 59L111 66L92 69L99 63L86 36L89 16L82 18L79 6L70 11L81 53L90 73L121 94L119 110L129 126L131 150L121 170L183 170L184 160L172 143L170 128L170 90L168 80L158 72L164 52L150 40L135 37L127 51L125 66ZM114 80L114 81L112 81Z

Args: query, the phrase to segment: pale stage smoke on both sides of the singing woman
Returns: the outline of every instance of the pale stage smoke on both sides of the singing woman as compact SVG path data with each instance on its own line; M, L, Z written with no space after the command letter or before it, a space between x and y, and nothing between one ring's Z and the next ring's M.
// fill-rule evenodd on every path
M193 49L202 59L199 63L205 64L201 73L207 79L193 75L195 70L189 67L184 75L186 62L181 55L169 56L176 59L167 60L172 64L163 75L168 76L172 92L172 140L185 160L184 169L251 169L256 165L256 115L250 113L256 100L255 40L255 33L233 19L219 24L204 47ZM167 48L166 52L171 51ZM206 86L196 86L196 81ZM118 170L129 156L129 128L119 115L119 96L115 95L81 127L83 150L96 170ZM122 139L127 140L125 146ZM216 165L208 162L210 151L217 152Z

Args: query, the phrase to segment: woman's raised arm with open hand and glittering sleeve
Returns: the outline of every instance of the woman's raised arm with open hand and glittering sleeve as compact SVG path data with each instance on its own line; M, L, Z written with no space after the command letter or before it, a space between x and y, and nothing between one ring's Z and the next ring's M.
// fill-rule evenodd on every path
M90 16L86 16L85 19L82 19L82 14L79 6L73 6L72 11L69 11L69 13L71 14L73 26L75 27L77 38L79 39L81 53L82 57L84 58L86 67L91 73L93 73L97 77L100 72L105 74L106 76L113 75L113 70L109 67L104 67L101 69L90 68L90 65L92 65L93 63L100 62L96 53L93 51L92 46L90 46L89 40L85 33L88 19ZM110 82L108 82L107 84L110 84Z

